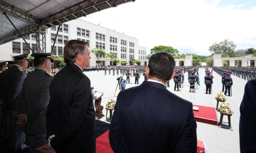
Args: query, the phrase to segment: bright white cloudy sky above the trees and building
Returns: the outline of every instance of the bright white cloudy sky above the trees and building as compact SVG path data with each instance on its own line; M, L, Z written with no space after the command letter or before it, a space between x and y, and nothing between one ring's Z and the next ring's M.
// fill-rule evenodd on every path
M256 0L136 0L83 17L139 39L139 46L172 46L210 55L214 42L256 48Z

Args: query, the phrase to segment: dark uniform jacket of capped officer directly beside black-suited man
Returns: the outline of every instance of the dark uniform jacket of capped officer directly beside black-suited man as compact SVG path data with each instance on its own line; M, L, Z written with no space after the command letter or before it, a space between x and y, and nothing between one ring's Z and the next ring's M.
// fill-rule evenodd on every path
M29 135L46 133L46 110L50 100L52 76L36 68L23 82L18 114L27 114L23 130Z

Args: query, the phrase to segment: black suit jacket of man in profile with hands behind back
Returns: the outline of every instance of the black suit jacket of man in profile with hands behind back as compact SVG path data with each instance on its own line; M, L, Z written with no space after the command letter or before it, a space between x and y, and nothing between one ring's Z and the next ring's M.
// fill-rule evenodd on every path
M91 82L75 64L52 79L47 110L47 138L56 151L95 153L95 110Z

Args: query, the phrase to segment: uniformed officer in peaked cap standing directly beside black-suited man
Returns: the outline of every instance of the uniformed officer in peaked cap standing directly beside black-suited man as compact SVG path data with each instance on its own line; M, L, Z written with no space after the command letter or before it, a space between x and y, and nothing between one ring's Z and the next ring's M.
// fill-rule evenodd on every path
M34 72L23 82L21 100L19 103L18 126L23 126L26 133L25 144L30 146L29 153L38 153L39 146L46 141L46 110L50 100L49 86L53 75L52 53L34 53Z

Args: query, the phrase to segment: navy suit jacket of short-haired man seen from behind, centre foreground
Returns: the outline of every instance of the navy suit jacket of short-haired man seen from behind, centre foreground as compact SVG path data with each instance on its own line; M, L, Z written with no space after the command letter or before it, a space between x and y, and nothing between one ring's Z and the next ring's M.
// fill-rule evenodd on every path
M117 96L109 129L115 153L196 153L192 103L144 81Z

